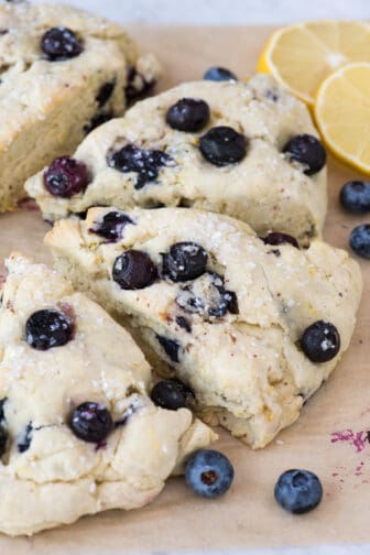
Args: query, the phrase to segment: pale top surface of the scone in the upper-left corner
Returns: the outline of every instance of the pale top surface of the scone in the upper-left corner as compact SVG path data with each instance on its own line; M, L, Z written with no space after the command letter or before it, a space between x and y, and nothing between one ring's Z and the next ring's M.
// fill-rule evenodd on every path
M81 81L86 86L91 70L104 74L105 63L110 77L116 69L115 85L121 87L120 98L112 95L115 101L109 102L109 109L122 113L124 68L134 65L138 52L121 26L69 6L29 3L1 4L0 25L3 65L0 110L9 116L0 131L1 149L11 144L28 120L36 116L42 120L47 110L63 102L68 89L69 95L74 88L83 89ZM52 30L62 29L70 31L73 36L67 36L64 47L59 43L59 57L56 50L53 56L51 45L56 46L61 35L52 35L48 40L45 36ZM45 44L47 50L44 50ZM105 61L107 54L112 59ZM99 78L95 80L98 85Z

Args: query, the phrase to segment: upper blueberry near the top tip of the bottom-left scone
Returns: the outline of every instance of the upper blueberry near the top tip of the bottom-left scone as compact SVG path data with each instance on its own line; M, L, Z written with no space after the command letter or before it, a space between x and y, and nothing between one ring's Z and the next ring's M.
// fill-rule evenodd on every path
M25 340L36 350L62 347L73 334L72 320L58 311L37 311L25 323Z

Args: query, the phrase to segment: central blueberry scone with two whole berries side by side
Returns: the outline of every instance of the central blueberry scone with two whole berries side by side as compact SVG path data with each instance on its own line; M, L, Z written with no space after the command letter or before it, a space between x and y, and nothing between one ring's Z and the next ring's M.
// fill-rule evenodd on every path
M265 446L347 349L358 264L315 240L185 208L91 208L46 236L56 265L170 364L199 414ZM161 371L161 366L159 366Z

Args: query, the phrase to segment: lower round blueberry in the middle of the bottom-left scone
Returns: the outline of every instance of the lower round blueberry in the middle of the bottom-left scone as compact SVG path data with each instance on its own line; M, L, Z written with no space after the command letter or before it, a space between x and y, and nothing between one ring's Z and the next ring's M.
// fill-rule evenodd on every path
M79 439L100 443L112 432L115 424L110 412L102 403L87 401L73 411L69 427Z

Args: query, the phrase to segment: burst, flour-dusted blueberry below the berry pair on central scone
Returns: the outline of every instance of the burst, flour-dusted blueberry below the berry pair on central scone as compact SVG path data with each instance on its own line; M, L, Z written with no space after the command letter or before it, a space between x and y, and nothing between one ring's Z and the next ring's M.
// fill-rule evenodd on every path
M181 287L176 303L183 311L199 314L205 319L220 318L227 312L231 314L239 312L236 294L227 291L224 279L214 272L206 272L188 285Z

